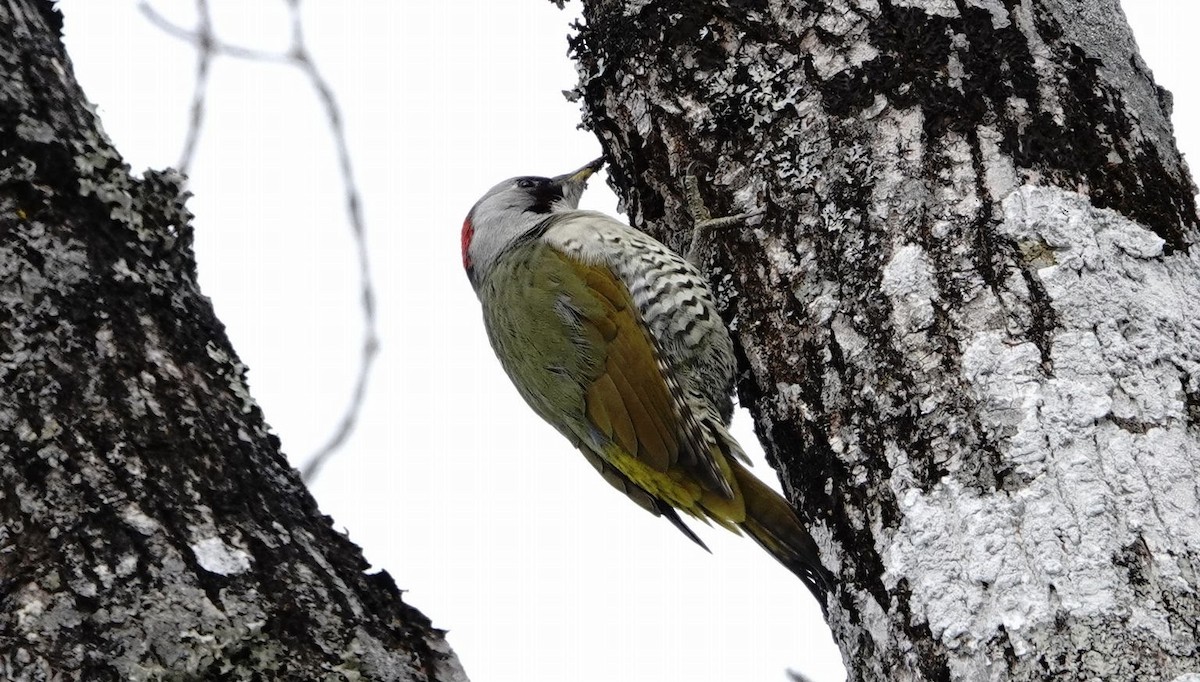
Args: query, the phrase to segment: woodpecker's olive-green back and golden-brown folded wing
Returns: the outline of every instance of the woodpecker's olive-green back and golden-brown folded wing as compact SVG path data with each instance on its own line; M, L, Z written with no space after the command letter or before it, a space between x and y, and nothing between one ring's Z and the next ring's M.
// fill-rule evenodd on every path
M480 295L488 337L517 390L602 462L610 483L647 508L662 502L730 528L745 520L719 449L707 456L718 459L732 496L706 483L707 469L685 463L696 457L680 457L686 406L672 399L629 291L607 267L527 243L500 257Z

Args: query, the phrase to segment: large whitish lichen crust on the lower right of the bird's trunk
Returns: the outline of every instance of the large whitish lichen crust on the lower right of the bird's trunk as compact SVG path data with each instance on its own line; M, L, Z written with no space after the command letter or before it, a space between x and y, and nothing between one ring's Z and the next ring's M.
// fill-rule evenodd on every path
M1186 391L1200 383L1200 257L1164 256L1150 231L1057 189L1022 187L1003 209L1001 234L1055 251L1036 273L1056 319L1051 371L1004 330L977 334L961 366L1018 483L980 491L950 475L923 490L896 477L904 521L881 548L886 581L922 576L913 612L964 652L955 670L1001 626L1018 656L1038 651L1027 633L1054 632L1060 610L1189 646L1162 600L1130 592L1188 593L1195 579L1200 442ZM898 250L884 289L914 288L900 283L917 262Z

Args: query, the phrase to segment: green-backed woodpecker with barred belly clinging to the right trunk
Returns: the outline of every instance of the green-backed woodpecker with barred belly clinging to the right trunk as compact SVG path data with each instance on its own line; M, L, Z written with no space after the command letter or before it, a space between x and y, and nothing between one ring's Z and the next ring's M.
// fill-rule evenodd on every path
M730 435L737 361L704 277L649 235L578 210L601 166L504 180L467 214L462 264L500 365L617 490L706 550L678 512L745 531L824 608L833 579L816 544Z

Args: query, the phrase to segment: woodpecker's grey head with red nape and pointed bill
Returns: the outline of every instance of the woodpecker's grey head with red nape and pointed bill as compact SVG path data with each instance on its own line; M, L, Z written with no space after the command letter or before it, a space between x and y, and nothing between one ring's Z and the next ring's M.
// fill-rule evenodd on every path
M500 253L548 215L578 209L588 178L602 166L600 157L570 173L509 178L488 190L462 222L462 267L472 285L478 286Z

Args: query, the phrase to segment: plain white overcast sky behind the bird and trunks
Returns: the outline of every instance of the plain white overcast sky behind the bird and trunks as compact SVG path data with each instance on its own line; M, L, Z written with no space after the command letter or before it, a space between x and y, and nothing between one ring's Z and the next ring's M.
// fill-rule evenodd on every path
M600 149L560 91L565 12L546 0L306 4L343 108L378 287L382 353L360 425L313 493L449 639L478 682L842 678L804 587L754 543L695 548L618 493L521 401L461 271L487 187ZM160 0L190 25L192 2ZM136 170L174 164L194 53L132 1L62 0L76 73ZM1126 0L1142 56L1200 149L1189 0ZM287 44L283 2L217 0L218 35ZM1190 89L1190 91L1189 91ZM292 68L218 58L190 207L205 293L298 465L341 418L358 366L358 270L322 109ZM594 181L584 208L616 211ZM757 449L746 418L739 435ZM757 455L761 461L761 454ZM772 478L760 463L757 473Z

